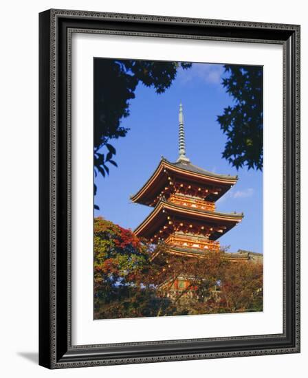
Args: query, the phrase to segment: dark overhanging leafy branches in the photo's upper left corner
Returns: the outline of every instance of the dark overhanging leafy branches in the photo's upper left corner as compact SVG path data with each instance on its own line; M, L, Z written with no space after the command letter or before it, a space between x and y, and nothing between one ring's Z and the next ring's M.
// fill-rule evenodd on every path
M164 93L175 79L177 69L187 69L191 63L160 62L148 60L94 60L94 166L103 176L109 173L109 164L116 151L110 143L124 137L129 129L121 125L129 116L129 102L135 98L139 83L153 87L156 93ZM107 147L105 153L101 152Z

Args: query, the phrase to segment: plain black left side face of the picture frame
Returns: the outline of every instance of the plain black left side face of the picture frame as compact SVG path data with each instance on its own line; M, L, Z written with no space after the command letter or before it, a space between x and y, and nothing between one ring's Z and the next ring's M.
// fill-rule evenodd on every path
M39 202L39 364L50 368L50 11L39 14Z

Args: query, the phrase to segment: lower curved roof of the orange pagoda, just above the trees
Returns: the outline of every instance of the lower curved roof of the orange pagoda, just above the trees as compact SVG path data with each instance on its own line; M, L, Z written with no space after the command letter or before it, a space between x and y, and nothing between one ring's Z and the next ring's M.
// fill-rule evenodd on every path
M222 233L215 233L211 236L211 240L216 240L225 232L228 232L237 223L243 219L243 213L224 213L212 212L196 208L188 208L187 206L177 205L167 201L159 201L154 210L148 214L146 219L135 229L136 236L151 238L157 230L166 222L166 216L177 216L187 221L198 221L207 224L217 224L225 226Z

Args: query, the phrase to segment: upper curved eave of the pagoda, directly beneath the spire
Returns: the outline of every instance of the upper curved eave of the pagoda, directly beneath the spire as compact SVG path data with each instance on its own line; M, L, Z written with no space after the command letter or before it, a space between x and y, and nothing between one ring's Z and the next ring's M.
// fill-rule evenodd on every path
M191 170L185 168L179 168L175 166L175 164L168 162L166 159L162 159L153 175L148 179L148 181L146 181L146 184L144 184L144 186L142 186L142 188L136 194L131 196L131 201L146 204L148 201L151 201L157 197L161 188L168 181L167 176L164 175L165 169L168 170L168 173L174 173L187 181L195 181L203 185L210 184L222 186L224 190L222 190L220 195L217 195L217 199L219 199L227 190L229 190L231 186L236 184L237 181L236 176L192 172Z

